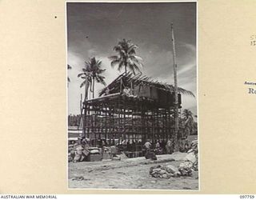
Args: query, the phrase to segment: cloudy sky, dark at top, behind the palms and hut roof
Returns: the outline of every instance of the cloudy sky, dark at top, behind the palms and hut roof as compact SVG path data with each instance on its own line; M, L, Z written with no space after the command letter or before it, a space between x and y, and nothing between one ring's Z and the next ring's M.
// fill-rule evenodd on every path
M122 38L138 45L142 73L158 81L174 84L170 23L174 23L178 62L178 86L197 94L196 3L67 3L67 42L69 114L79 114L82 79L78 73L92 57L102 60L106 83L117 78L117 68L110 66L109 56ZM95 96L103 88L95 84ZM196 98L182 96L182 107L196 114Z

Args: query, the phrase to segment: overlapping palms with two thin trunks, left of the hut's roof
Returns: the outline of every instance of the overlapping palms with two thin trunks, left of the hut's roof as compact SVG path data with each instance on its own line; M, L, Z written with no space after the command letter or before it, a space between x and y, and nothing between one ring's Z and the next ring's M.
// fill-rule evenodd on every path
M81 77L84 80L81 86L85 86L85 98L87 98L88 88L90 86L90 91L93 92L94 98L94 84L96 82L102 83L106 86L106 82L104 81L105 77L101 74L105 71L102 69L102 61L96 60L96 58L90 58L90 61L86 62L86 67L82 68L82 73L78 74L78 77Z

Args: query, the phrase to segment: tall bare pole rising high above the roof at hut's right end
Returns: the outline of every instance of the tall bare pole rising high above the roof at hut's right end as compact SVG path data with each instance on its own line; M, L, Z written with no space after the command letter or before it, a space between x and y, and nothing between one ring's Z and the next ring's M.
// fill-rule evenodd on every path
M177 63L176 63L176 50L175 50L175 40L174 40L174 26L171 23L171 41L173 45L173 60L174 60L174 150L178 151L178 81L177 81Z

